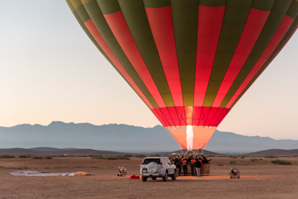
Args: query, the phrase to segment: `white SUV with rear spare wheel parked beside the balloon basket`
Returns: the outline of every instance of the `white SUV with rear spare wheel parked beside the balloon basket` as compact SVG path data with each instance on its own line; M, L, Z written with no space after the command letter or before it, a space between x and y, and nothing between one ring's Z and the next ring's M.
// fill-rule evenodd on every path
M143 182L148 178L162 178L166 182L168 176L176 180L176 166L167 157L147 157L141 164L141 175Z

